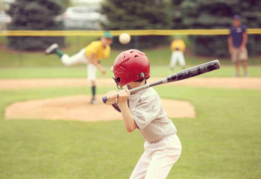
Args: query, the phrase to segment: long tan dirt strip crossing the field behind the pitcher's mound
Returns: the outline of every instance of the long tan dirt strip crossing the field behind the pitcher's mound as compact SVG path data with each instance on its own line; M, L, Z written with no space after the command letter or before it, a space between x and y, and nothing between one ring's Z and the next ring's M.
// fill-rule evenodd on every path
M154 82L161 78L149 78L148 82ZM0 90L43 88L43 87L77 87L87 86L86 78L33 78L33 79L0 79ZM245 88L261 89L261 78L236 78L236 77L198 77L189 78L165 85L215 87L215 88ZM98 78L98 87L112 87L115 83L112 78Z

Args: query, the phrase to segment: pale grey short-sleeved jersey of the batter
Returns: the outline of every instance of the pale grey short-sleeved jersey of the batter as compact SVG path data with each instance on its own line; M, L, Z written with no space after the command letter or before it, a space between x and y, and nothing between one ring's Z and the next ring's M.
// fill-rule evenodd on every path
M145 141L158 141L177 132L172 121L167 118L160 97L153 88L131 95L129 109Z

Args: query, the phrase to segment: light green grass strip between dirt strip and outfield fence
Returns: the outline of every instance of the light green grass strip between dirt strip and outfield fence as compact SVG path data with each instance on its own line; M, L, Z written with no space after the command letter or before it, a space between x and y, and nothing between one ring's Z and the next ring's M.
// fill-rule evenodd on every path
M188 67L192 67L189 65ZM110 71L110 66L106 66L107 73L102 75L98 70L98 77L112 77L113 73ZM177 67L174 72L182 70ZM249 66L249 75L251 77L261 76L261 66ZM202 76L234 76L235 70L233 66L225 66L221 63L220 70L216 70L210 73L206 73ZM168 66L151 66L152 77L165 77L171 75ZM243 71L241 69L241 75ZM0 78L86 78L87 68L84 67L12 67L12 68L0 68Z

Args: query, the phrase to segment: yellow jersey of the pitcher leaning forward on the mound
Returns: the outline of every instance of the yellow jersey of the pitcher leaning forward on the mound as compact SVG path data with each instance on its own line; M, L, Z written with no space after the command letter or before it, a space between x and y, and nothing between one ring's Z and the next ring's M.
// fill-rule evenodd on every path
M92 41L87 47L85 47L85 55L90 58L92 54L96 55L96 59L109 58L110 57L110 45L103 47L101 41Z

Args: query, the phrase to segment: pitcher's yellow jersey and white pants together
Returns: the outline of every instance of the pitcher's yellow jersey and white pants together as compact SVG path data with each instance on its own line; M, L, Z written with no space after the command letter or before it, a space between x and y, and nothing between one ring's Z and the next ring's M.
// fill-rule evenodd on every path
M96 56L97 62L101 58L110 57L110 45L107 45L105 48L102 45L101 41L92 41L87 47L82 49L79 53L69 57L67 54L64 54L61 57L61 61L66 66L71 66L79 63L87 64L87 76L89 81L95 81L97 67L89 61L91 55Z

